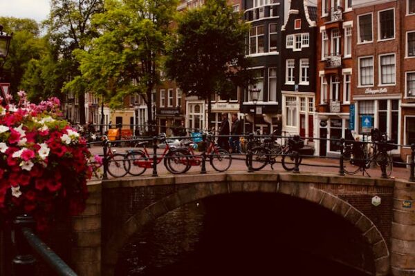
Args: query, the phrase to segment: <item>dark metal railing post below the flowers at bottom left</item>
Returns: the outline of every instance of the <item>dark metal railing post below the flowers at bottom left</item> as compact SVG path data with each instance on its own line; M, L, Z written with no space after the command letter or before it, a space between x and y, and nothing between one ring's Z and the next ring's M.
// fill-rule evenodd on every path
M35 274L36 259L32 255L32 249L23 235L24 228L34 228L35 220L28 215L17 216L13 221L12 243L15 246L16 255L12 261L15 276Z

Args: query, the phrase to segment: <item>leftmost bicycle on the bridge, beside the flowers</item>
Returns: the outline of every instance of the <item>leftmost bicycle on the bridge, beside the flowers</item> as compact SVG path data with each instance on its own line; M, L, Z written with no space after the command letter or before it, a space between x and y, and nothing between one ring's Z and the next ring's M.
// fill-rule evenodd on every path
M127 162L122 153L116 153L116 150L111 150L111 142L109 141L106 135L102 136L102 141L104 145L107 146L106 159L103 159L102 162L91 162L95 166L95 169L98 170L100 167L104 166L104 162L107 162L107 172L112 177L124 177L127 175L129 166L131 165ZM99 157L104 157L104 155L98 155Z

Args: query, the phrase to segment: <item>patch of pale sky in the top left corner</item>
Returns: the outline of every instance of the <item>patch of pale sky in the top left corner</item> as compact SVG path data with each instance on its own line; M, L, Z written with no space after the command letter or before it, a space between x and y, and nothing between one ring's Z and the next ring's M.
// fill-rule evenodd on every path
M0 0L0 17L30 18L40 23L48 14L49 0Z

